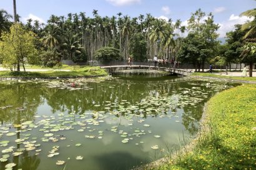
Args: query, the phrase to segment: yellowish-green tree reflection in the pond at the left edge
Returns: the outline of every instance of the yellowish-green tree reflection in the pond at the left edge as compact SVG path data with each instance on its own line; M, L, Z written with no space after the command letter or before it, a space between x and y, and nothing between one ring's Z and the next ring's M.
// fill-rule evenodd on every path
M14 83L0 85L0 106L12 106L0 109L0 121L11 121L19 124L21 119L32 120L37 107L43 102L42 90L38 85L28 83ZM19 111L16 108L24 108Z

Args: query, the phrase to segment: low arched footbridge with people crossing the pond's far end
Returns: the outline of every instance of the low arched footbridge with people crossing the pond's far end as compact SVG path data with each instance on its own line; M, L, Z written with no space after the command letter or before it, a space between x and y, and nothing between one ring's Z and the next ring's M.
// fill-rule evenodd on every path
M179 69L179 68L170 68L170 67L154 67L149 65L111 65L111 66L102 66L109 73L119 72L122 70L159 70L169 73L174 73L178 75L190 75L191 70Z

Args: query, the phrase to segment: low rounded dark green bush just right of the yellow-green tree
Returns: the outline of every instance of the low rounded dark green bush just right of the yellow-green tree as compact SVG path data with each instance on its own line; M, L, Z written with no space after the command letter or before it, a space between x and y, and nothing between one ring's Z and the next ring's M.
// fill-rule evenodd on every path
M40 59L42 62L42 65L44 67L54 67L56 65L61 65L61 56L57 52L57 50L42 50L40 54Z

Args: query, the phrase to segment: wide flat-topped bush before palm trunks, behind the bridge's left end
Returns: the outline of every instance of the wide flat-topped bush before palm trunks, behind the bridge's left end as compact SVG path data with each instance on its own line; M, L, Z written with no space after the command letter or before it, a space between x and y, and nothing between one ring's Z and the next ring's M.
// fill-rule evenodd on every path
M109 61L109 60L118 60L120 59L120 54L119 54L119 49L115 49L113 47L102 47L99 50L96 50L94 53L94 56L98 60L104 60L104 61Z

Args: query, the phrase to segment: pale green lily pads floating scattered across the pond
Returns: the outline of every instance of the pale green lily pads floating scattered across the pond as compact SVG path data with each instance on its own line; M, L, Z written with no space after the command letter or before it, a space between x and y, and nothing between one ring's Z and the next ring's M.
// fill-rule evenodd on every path
M95 80L95 79L93 79ZM98 81L102 81L99 79ZM42 80L41 80L42 82ZM74 79L74 80L54 80L47 82L47 87L49 88L62 88L67 90L80 90L81 88L91 89L87 84L90 80L87 79ZM97 82L97 81L95 81ZM77 87L72 87L72 83ZM82 85L82 87L81 87ZM109 128L112 133L120 135L121 143L127 144L134 138L139 138L147 133L153 133L152 137L160 138L160 135L154 134L154 131L150 130L150 125L145 124L146 116L159 116L159 118L173 118L175 115L175 109L183 108L184 106L190 105L196 107L197 103L205 100L210 95L210 90L202 90L202 87L210 88L215 92L219 92L228 85L219 83L201 83L198 84L190 83L194 85L192 88L179 88L179 92L175 90L169 90L164 95L152 95L140 100L140 102L131 103L127 100L120 100L115 102L106 101L104 102L104 110L98 110L101 105L94 105L95 109L92 111L87 111L81 115L76 115L75 112L69 113L68 115L60 113L58 115L37 115L34 116L34 121L22 120L19 125L5 124L0 126L0 138L9 138L9 136L17 135L20 133L22 138L15 140L16 144L19 144L21 148L16 148L15 146L9 146L10 141L2 140L0 141L2 157L1 162L6 162L12 156L19 156L24 153L24 151L34 151L34 154L41 153L41 144L43 143L57 143L62 140L66 140L67 137L64 135L64 131L76 130L77 133L84 135L84 139L102 139L104 138L104 131L101 130L99 125L101 123L106 123L106 118L111 118L112 120L117 120L119 117L127 120L127 126L131 128L126 128L120 125L114 125ZM2 106L2 109L9 108L9 106ZM191 119L193 119L191 117ZM179 122L177 120L177 122ZM132 128L134 123L142 126L142 128ZM12 128L11 128L12 127ZM16 131L13 131L16 128ZM36 130L41 134L41 139L31 138L31 134L28 132L31 130ZM89 133L97 131L97 135L90 135ZM139 141L143 144L144 141ZM135 143L138 145L139 143ZM70 145L69 145L70 146ZM67 146L67 147L69 147ZM75 144L75 146L82 146L81 143ZM159 149L157 144L151 146L152 149ZM58 156L60 146L53 146L47 157L52 158ZM70 159L70 158L67 158ZM77 160L83 159L83 156L76 156ZM65 161L58 160L57 165L65 164ZM6 169L12 169L16 166L14 163L6 164Z

